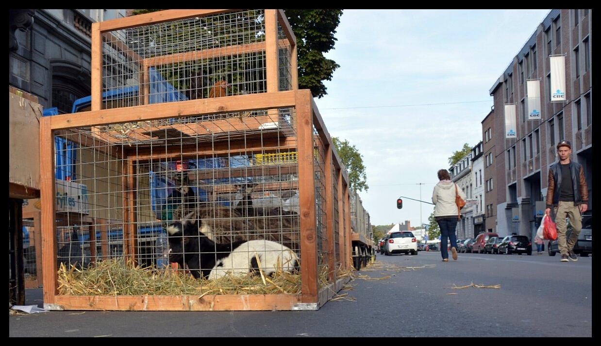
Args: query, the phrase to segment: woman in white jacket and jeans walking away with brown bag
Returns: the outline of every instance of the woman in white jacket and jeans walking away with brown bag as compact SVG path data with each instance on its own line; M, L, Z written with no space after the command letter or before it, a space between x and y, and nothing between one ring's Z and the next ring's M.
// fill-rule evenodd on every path
M432 202L434 207L434 218L441 228L441 255L442 261L448 262L449 254L447 250L447 238L451 240L451 253L453 260L457 260L457 235L455 228L459 220L459 208L455 204L457 194L464 200L465 193L462 189L456 188L456 184L451 181L451 176L446 169L438 171L438 184L434 187L432 193Z

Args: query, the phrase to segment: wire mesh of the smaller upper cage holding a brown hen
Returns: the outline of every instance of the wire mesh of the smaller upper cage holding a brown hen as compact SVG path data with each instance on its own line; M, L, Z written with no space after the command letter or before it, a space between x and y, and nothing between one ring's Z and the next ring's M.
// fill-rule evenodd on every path
M290 42L279 30L279 90L291 90ZM265 93L264 10L102 34L103 108Z

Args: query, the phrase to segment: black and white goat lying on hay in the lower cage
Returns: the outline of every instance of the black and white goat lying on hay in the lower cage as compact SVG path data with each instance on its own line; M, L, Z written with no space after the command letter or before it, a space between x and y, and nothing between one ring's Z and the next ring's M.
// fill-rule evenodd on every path
M231 273L234 276L258 272L265 275L282 270L292 272L299 261L290 248L270 240L234 241L219 244L201 232L201 220L190 220L186 215L181 222L167 226L169 261L185 269L194 278L217 279ZM258 258L258 260L257 260Z

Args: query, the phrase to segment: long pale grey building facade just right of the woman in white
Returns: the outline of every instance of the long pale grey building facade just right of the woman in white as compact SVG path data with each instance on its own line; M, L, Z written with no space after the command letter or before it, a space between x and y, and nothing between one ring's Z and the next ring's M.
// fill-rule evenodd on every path
M474 198L474 181L472 179L472 153L463 157L449 169L451 180L462 189L468 199ZM466 205L461 210L461 219L457 222L457 238L471 238L474 234L474 210Z

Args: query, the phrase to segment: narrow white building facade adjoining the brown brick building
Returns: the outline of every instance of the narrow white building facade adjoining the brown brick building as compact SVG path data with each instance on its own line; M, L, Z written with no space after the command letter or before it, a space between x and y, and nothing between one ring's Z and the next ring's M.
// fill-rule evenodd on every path
M472 181L476 205L466 205L466 207L471 207L473 210L474 235L477 235L480 234L480 232L484 232L484 222L486 220L486 216L484 215L484 206L486 205L484 184L486 183L486 180L484 180L484 144L482 141L472 148ZM468 236L469 235L466 234L466 237Z

